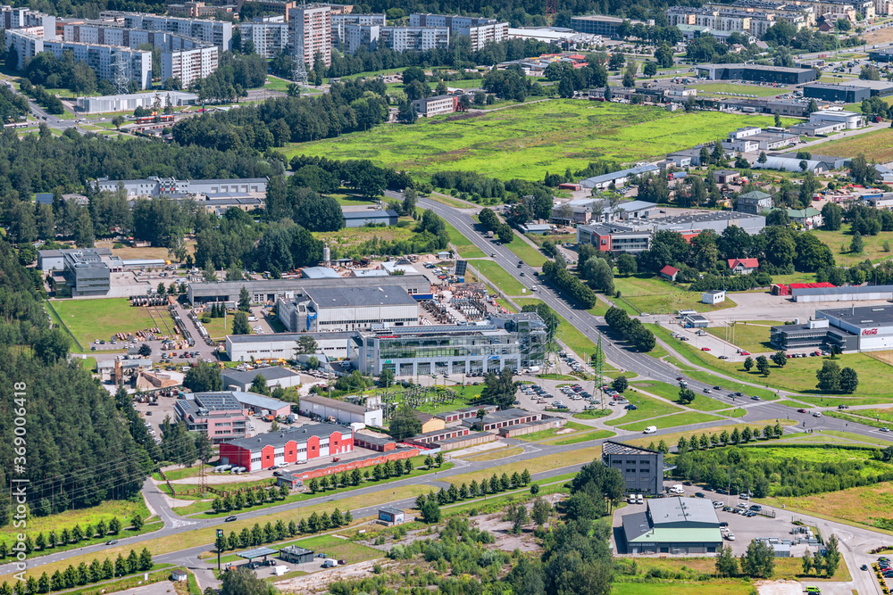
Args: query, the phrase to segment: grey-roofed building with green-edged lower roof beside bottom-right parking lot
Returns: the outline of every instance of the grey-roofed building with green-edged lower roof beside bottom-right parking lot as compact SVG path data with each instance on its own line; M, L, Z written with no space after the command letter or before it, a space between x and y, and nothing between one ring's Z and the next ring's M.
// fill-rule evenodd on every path
M712 554L722 547L720 522L710 500L672 497L646 501L646 512L623 515L618 549L623 547L629 554Z

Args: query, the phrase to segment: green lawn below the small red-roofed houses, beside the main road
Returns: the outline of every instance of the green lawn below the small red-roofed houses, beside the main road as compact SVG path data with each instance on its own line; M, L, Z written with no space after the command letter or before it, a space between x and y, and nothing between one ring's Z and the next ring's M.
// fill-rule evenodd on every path
M679 285L672 285L663 279L646 274L614 277L614 289L622 296L622 300L617 301L618 307L635 316L642 312L665 314L677 310L710 312L737 305L728 297L725 302L715 306L701 303L700 293L686 291Z

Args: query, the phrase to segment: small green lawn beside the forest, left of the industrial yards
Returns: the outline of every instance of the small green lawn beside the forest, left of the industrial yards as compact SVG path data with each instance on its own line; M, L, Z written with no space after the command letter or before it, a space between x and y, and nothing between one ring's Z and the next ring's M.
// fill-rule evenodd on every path
M155 326L146 308L131 306L127 298L62 300L54 301L53 307L86 350L96 339L108 341L115 333L135 333Z

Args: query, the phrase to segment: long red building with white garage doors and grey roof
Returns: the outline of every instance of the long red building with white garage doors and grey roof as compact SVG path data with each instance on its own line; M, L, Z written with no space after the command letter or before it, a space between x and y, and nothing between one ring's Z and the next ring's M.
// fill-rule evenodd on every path
M335 424L310 424L286 432L270 432L220 445L221 464L247 471L296 463L354 450L354 432Z

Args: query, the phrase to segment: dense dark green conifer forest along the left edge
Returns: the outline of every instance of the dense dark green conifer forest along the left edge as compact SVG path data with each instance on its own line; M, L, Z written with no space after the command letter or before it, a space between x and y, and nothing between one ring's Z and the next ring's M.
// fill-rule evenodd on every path
M151 460L121 423L113 397L77 360L67 361L68 337L50 328L35 277L0 242L0 434L7 437L0 481L28 478L35 515L133 496ZM18 426L24 431L13 434ZM0 525L10 522L11 509L4 490Z

